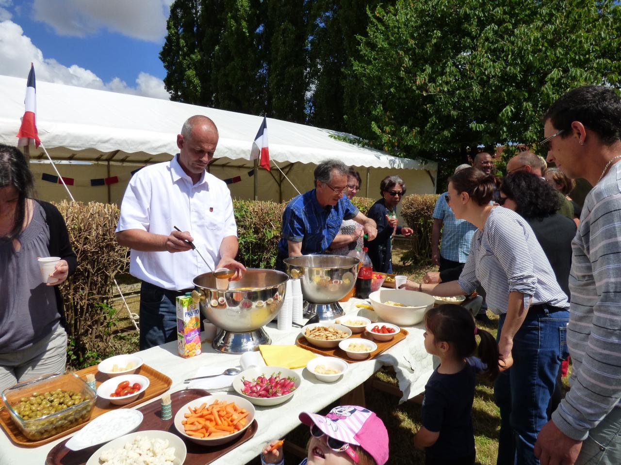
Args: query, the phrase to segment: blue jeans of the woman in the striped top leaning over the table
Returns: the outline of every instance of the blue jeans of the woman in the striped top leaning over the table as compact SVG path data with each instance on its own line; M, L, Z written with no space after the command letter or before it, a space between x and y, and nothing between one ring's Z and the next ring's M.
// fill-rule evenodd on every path
M500 317L498 339L505 315ZM546 409L554 392L556 374L568 356L569 311L545 304L532 306L513 339L513 366L494 384L501 411L497 465L536 464L535 440L548 422Z

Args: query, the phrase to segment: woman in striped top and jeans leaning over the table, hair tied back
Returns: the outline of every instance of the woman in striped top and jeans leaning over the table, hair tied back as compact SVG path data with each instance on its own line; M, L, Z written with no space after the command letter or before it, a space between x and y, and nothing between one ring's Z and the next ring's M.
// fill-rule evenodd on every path
M547 421L546 407L554 391L561 359L567 356L567 296L550 262L522 216L490 205L494 179L468 168L448 184L448 205L455 218L474 232L468 261L457 281L410 285L435 296L469 295L480 284L487 306L499 315L501 355L513 360L494 384L501 411L497 463L538 464L533 454L537 434Z

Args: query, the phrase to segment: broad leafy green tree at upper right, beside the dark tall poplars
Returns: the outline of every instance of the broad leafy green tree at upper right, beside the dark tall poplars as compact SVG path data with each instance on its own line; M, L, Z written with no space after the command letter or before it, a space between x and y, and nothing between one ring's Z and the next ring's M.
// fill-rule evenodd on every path
M354 73L372 137L404 156L454 167L480 144L533 143L568 89L619 87L613 0L398 0L369 18Z

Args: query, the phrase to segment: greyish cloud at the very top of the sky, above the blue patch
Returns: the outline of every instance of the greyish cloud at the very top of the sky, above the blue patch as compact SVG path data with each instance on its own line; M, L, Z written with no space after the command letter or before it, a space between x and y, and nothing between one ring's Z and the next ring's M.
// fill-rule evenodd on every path
M99 29L160 42L172 0L34 0L34 19L59 35L85 37Z

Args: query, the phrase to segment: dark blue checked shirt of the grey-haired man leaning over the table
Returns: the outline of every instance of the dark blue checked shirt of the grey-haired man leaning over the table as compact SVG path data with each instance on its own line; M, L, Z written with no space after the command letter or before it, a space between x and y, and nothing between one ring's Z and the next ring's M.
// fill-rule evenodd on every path
M287 241L302 242L302 255L323 254L338 234L343 219L356 215L358 208L347 197L324 208L317 201L315 189L297 195L284 209L279 254L289 256Z

